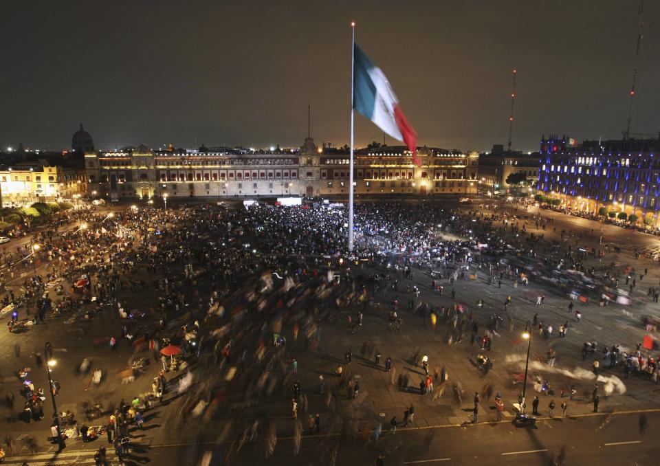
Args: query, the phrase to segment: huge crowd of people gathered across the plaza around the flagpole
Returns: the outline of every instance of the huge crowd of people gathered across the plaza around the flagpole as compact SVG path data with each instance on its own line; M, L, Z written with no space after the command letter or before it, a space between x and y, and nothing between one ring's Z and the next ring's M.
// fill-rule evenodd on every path
M503 280L518 287L530 278L543 283L550 279L551 285L564 291L585 297L600 294L608 302L621 296L613 287L615 281L635 274L632 269L588 267L587 256L602 258L601 251L587 251L571 232L560 232L560 241L546 241L544 232L553 228L551 219L525 211L516 215L505 210L487 213L474 206L451 210L437 203L358 203L359 234L353 255L345 247L346 225L347 211L327 206L83 210L72 215L68 225L36 233L38 254L25 260L28 251L21 249L5 254L4 260L12 265L39 260L40 269L23 282L25 307L34 310L35 323L50 313L91 321L98 313L110 312L120 320L122 332L107 335L109 351L124 341L134 348L127 381L143 372L142 360L150 352L162 362L151 392L136 397L137 406L122 402L117 410L103 410L108 417L105 432L109 439L114 434L120 456L126 449L122 440L129 438L128 425L141 426L144 411L162 402L164 394L181 396L182 415L177 418L181 423L189 417L223 418L240 410L240 418L227 419L242 432L233 454L248 441L260 441L265 454L272 454L276 422L264 414L259 401L275 393L292 400L298 446L303 432L319 432L321 425L341 428L346 422L342 393L357 399L360 392L350 357L337 369L337 384L319 382L329 413L322 421L309 406L307 393L312 389L298 380L294 355L333 351L333 342L322 340L323 326L336 324L337 316L345 313L349 327L355 329L362 325L363 313L386 296L393 296L388 311L399 330L404 324L399 317L402 298L432 328L445 325L448 343L465 341L469 335L472 344L481 346L475 364L487 373L493 365L488 352L498 327L507 322L512 330L514 318L510 296L503 311L499 304L480 300L472 309L455 299L456 287L470 286L477 272L497 287ZM420 297L417 286L399 285L399 280L409 283L406 280L415 273L433 277L429 282L434 293L442 295L442 284L447 287L452 304L434 307ZM626 297L637 299L632 291ZM5 297L7 304L15 300L13 294ZM540 319L538 328L549 339L554 335L547 319ZM562 319L558 325L560 337L573 325L568 321ZM168 348L175 353L166 355ZM643 358L639 350L638 359ZM380 365L380 353L370 354ZM554 365L556 355L550 359ZM639 370L655 366L651 357L644 358L646 364L638 362ZM634 359L630 364L636 367ZM390 355L385 365L394 384L396 363ZM434 392L434 382L443 390L447 369L438 367L430 374L428 357L421 359L420 366L425 375L419 390ZM96 373L92 378L100 382L102 377ZM398 384L408 387L403 375ZM464 390L454 386L456 391L460 397ZM28 402L35 394L39 399L43 390L30 387L23 392ZM501 397L496 402L499 406ZM369 408L364 410L364 419L374 415ZM411 406L406 422L412 422L412 410ZM354 422L358 425L359 419ZM336 449L328 445L323 454L331 458Z

